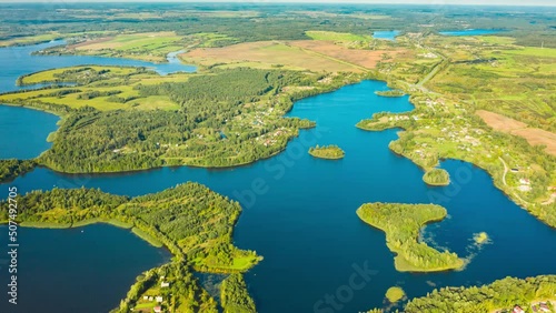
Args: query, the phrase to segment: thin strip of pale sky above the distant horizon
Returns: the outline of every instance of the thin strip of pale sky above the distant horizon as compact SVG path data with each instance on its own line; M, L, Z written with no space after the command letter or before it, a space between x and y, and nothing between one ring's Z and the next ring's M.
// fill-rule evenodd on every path
M0 0L0 3L87 3L87 2L244 2L244 3L411 3L411 4L484 4L484 6L553 6L556 7L556 0Z

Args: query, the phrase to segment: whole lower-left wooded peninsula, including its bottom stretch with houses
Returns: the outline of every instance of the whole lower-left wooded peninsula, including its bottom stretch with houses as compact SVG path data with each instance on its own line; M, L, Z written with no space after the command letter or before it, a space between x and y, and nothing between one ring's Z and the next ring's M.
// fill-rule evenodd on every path
M0 202L0 221L8 221L7 201ZM95 189L33 191L18 199L17 222L33 228L75 228L110 223L132 229L150 243L165 245L171 263L138 277L115 312L155 306L143 295L162 296L169 312L218 312L216 301L199 286L192 271L235 273L225 289L230 306L248 299L239 273L261 260L254 251L232 244L234 225L241 208L198 183L177 185L159 193L128 198ZM252 306L252 303L250 304Z

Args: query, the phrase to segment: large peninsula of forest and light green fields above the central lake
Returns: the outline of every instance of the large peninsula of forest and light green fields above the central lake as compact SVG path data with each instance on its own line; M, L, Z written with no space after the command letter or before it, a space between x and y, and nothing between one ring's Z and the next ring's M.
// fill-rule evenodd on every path
M159 166L235 166L279 153L315 122L285 118L295 100L355 74L286 69L211 69L159 75L145 68L47 70L20 84L68 83L0 94L0 102L62 117L38 164L66 173Z

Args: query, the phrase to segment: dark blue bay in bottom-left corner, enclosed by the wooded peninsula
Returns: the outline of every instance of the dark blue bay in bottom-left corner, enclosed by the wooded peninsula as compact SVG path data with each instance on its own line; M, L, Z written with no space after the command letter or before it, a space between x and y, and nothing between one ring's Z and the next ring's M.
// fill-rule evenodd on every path
M0 312L95 312L118 306L139 273L168 262L129 230L95 224L68 230L19 229L18 304L8 303L6 235L0 226ZM125 248L125 249L122 249Z

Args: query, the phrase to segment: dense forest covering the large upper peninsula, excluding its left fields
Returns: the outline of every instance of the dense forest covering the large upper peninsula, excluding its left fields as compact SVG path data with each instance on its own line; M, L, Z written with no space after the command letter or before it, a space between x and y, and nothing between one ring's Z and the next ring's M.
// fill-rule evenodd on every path
M285 85L311 85L318 79L292 71L234 69L186 82L138 84L142 97L167 95L181 109L71 110L39 162L57 171L81 173L250 163L281 151L299 129L315 125L281 117L301 94L276 94ZM82 99L99 95L80 94ZM255 102L264 107L252 108ZM250 124L239 121L246 119Z

